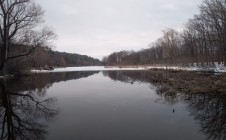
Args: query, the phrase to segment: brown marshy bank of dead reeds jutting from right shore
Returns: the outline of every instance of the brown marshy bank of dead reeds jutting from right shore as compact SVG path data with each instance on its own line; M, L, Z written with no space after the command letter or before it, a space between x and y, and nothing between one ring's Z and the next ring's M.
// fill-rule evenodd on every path
M214 75L199 72L151 70L153 73L168 74L164 79L158 81L164 83L157 89L161 93L212 93L226 94L226 74ZM155 79L156 80L156 79Z

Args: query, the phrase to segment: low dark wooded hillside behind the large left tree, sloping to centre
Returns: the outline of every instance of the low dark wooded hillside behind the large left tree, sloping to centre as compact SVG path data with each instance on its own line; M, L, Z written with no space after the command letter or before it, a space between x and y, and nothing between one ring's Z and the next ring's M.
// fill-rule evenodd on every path
M27 47L26 47L27 48ZM14 50L18 52L18 50ZM8 71L43 69L46 67L99 66L102 62L86 55L57 52L49 48L36 48L31 54L9 60Z

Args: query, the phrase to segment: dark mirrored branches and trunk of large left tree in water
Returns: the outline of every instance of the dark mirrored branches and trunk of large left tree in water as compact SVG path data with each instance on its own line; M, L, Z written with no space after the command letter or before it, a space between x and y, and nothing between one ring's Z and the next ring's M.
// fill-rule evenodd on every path
M49 120L57 115L58 111L50 108L55 99L46 98L41 90L10 92L3 84L0 89L1 139L44 139L47 131L41 119Z

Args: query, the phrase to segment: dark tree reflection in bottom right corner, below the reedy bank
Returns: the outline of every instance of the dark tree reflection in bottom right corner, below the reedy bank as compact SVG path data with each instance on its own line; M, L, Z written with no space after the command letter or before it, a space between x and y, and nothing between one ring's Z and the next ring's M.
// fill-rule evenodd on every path
M191 94L185 95L191 115L201 125L201 132L208 139L226 139L226 95L223 94Z

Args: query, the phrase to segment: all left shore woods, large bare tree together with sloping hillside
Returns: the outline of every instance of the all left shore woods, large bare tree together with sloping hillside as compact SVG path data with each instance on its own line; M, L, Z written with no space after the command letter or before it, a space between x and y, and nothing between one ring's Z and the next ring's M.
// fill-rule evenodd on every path
M34 0L0 1L0 74L30 69L101 65L86 55L56 52L50 47L57 38L44 25L44 10Z

